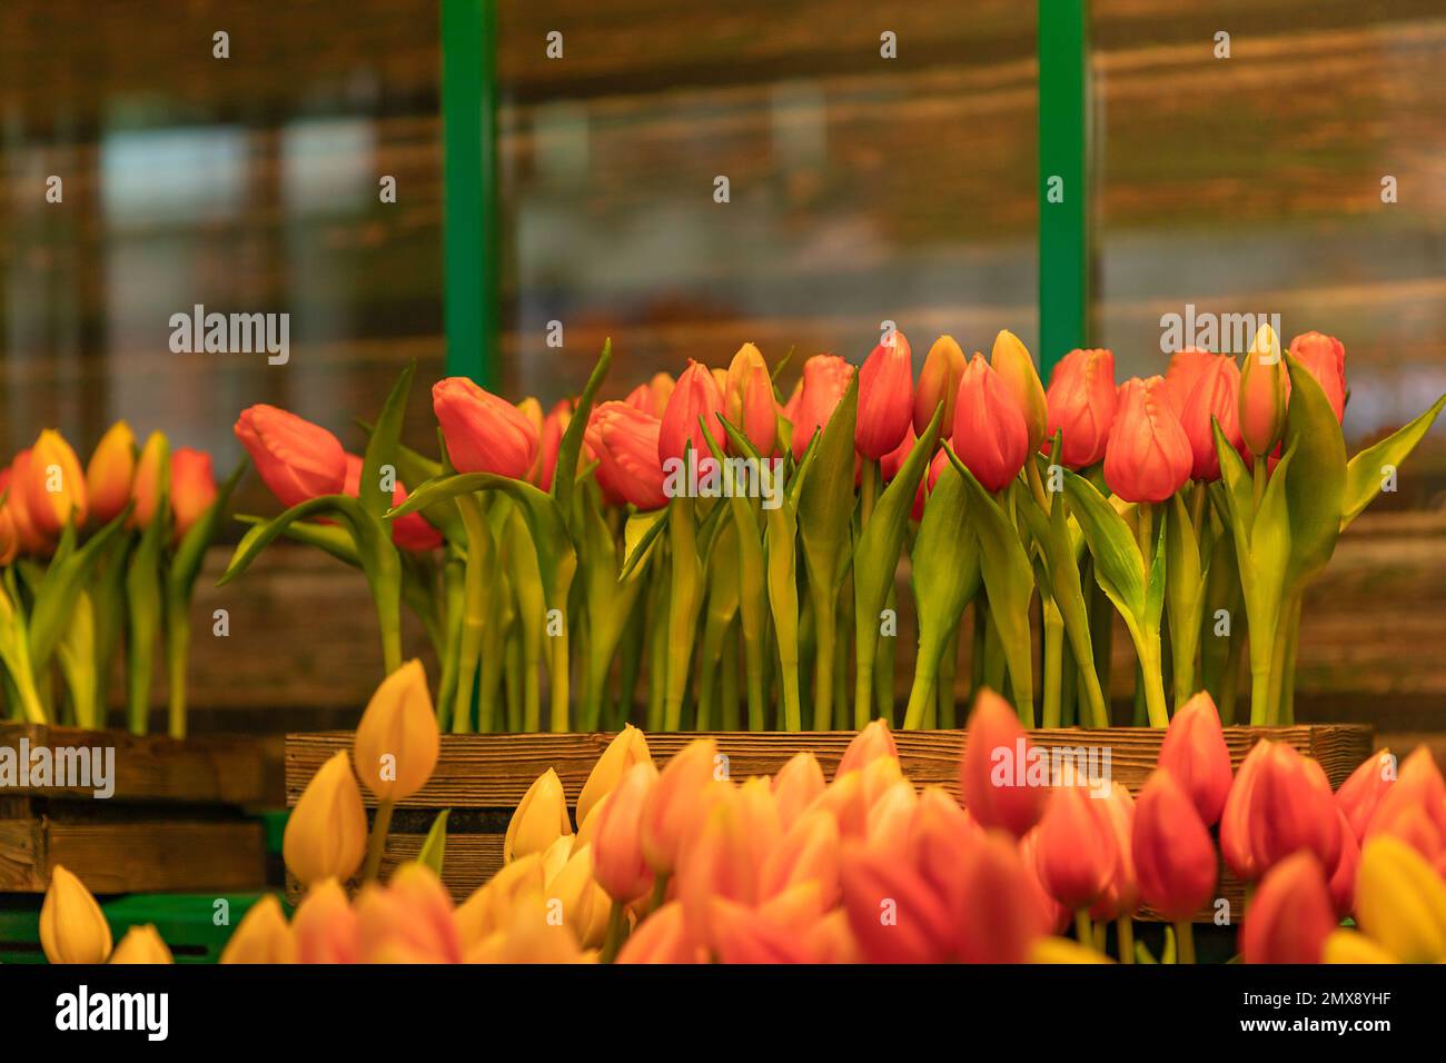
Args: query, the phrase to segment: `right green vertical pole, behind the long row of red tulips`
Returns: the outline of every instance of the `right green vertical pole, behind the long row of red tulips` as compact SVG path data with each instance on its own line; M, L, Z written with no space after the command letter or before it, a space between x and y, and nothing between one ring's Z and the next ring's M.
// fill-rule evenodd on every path
M1089 0L1038 0L1040 372L1089 340Z

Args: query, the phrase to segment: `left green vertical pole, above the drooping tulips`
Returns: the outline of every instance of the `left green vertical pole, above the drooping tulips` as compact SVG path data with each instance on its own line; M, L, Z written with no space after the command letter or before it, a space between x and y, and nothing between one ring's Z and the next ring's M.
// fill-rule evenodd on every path
M442 0L442 250L447 375L496 390L496 10Z

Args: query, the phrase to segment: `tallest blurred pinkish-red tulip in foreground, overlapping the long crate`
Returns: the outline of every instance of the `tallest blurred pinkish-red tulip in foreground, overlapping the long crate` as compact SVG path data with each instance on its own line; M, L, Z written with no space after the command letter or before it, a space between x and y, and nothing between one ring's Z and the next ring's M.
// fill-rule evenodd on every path
M1030 784L1031 749L1014 709L992 690L980 690L959 769L959 791L979 826L1024 837L1040 821L1048 790Z

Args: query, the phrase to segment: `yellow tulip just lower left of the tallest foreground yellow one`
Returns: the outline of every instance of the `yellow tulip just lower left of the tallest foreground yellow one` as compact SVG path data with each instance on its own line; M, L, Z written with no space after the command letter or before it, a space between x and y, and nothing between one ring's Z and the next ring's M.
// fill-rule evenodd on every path
M312 775L286 819L282 856L302 885L328 878L346 881L366 855L366 810L351 774L351 759L338 751Z

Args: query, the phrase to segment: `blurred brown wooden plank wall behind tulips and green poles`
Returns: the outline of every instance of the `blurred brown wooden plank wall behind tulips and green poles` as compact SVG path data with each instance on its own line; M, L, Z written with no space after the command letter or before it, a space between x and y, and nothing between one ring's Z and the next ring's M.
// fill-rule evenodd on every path
M4 0L4 456L43 427L88 450L124 417L226 469L253 402L357 448L353 415L408 359L440 376L438 23L437 0ZM943 331L1032 349L1035 32L1019 0L503 0L502 390L576 392L606 336L613 392L745 340L860 360L885 318L920 357ZM1446 390L1446 3L1093 0L1090 35L1092 328L1121 373L1161 370L1160 318L1194 304L1339 336L1352 450ZM195 304L289 312L289 364L171 353ZM418 388L412 441L432 424ZM1342 544L1301 649L1320 713L1446 713L1424 652L1446 632L1443 486L1437 428L1379 503L1414 513ZM270 506L252 477L240 508ZM215 592L253 681L202 661L197 700L231 722L350 710L360 579L268 564Z

